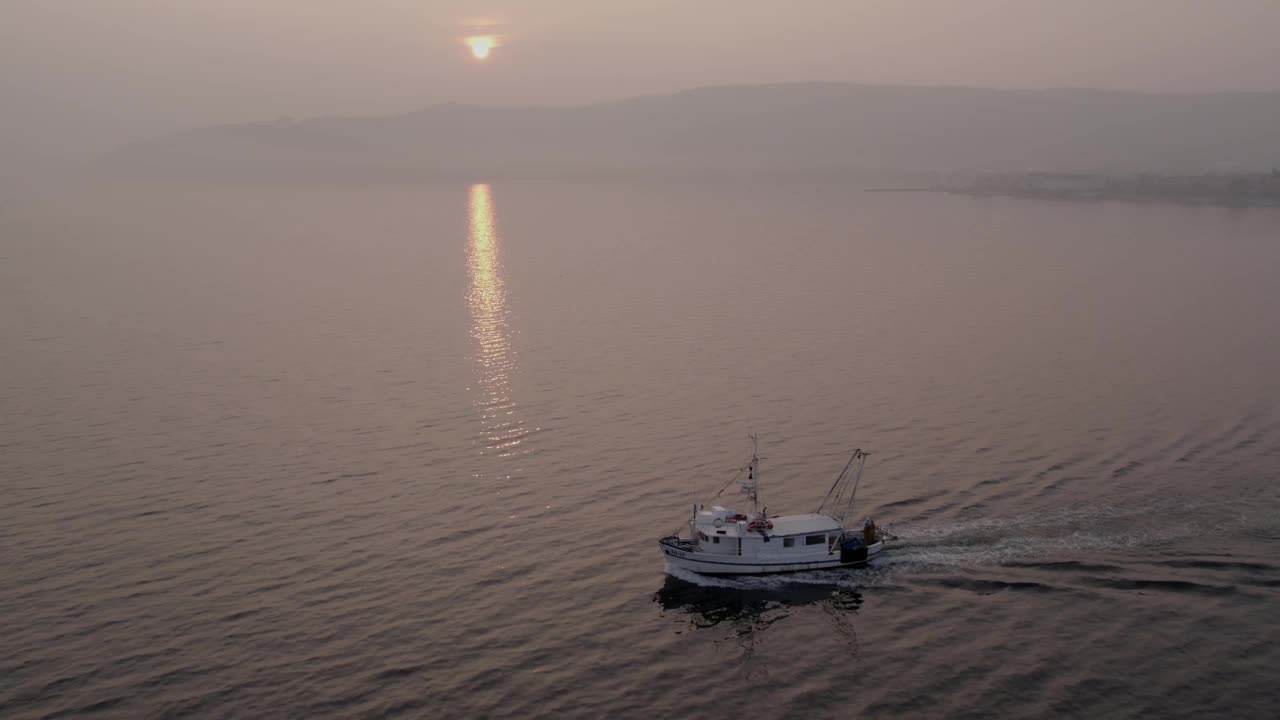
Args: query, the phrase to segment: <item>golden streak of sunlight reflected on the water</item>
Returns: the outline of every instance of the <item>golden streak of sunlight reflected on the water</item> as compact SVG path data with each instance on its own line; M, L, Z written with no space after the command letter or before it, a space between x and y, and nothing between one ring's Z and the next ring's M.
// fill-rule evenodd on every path
M498 232L494 227L493 192L488 184L472 184L468 202L467 305L475 341L475 404L480 411L481 452L508 456L527 434L511 398L516 352L511 342L511 311L502 277Z

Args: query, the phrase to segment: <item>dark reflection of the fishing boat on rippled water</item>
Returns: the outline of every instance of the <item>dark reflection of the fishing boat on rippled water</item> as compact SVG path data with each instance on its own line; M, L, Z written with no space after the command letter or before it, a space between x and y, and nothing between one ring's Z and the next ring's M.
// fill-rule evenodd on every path
M742 646L744 656L753 653L755 643L763 639L769 626L805 607L826 612L832 630L845 639L852 652L858 651L852 620L863 605L863 596L838 584L787 582L780 578L744 578L704 584L703 579L690 582L668 574L662 588L653 593L653 600L664 611L686 614L690 629L730 629Z

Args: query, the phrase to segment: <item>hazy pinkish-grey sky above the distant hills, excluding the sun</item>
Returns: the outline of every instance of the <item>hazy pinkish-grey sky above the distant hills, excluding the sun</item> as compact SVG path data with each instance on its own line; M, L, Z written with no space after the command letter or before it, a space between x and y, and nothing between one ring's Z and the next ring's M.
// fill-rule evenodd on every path
M0 0L0 150L721 83L1275 91L1277 36L1280 0Z

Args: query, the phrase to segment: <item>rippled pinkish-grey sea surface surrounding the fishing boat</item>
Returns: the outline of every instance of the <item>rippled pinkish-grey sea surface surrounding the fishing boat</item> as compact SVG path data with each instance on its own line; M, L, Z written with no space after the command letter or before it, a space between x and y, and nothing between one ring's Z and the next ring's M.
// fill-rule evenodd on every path
M0 716L1280 716L1280 213L818 183L0 211ZM865 570L668 577L762 437ZM748 703L749 705L744 705Z

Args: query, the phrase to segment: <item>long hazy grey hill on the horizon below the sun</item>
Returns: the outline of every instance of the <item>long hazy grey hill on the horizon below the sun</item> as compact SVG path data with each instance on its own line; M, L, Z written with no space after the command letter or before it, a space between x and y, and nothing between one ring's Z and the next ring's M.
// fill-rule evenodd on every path
M436 105L195 129L113 172L223 179L1203 172L1280 167L1280 94L844 83L707 87L581 106Z

